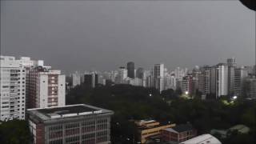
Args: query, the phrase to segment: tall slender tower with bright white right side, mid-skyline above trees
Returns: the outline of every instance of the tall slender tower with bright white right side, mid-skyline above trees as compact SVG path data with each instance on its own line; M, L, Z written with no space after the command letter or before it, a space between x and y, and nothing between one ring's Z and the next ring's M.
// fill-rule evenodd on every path
M164 90L164 65L154 65L154 87L160 92Z

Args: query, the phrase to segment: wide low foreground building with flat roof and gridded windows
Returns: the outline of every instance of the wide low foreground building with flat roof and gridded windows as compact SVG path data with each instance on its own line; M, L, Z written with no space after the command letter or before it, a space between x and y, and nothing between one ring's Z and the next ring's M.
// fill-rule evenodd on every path
M36 144L108 144L111 110L85 104L30 109L30 131Z

